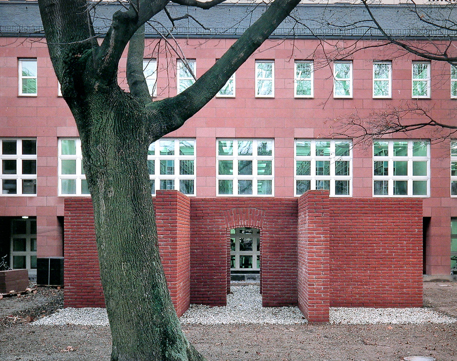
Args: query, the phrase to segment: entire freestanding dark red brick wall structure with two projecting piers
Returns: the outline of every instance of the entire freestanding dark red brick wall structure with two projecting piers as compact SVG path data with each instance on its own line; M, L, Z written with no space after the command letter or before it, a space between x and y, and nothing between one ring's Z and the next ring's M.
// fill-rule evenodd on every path
M329 306L422 305L422 200L188 198L158 191L160 254L178 315L225 305L230 229L260 229L263 306L298 304L312 322ZM65 306L103 307L90 199L65 200Z

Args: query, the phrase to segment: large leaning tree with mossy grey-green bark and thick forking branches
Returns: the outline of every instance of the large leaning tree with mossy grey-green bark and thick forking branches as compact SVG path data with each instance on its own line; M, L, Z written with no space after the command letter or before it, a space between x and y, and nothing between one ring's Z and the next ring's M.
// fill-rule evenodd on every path
M182 334L168 292L159 257L147 148L197 113L298 2L276 0L193 86L151 103L144 77L135 76L142 72L144 46L144 39L138 43L137 30L167 1L133 2L143 4L140 9L146 9L149 17L132 11L132 6L117 12L99 46L86 1L39 0L53 66L81 137L112 361L204 360ZM128 93L118 86L117 71L126 39L134 33Z

